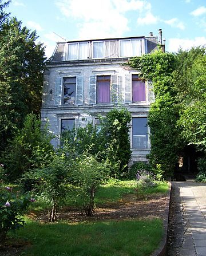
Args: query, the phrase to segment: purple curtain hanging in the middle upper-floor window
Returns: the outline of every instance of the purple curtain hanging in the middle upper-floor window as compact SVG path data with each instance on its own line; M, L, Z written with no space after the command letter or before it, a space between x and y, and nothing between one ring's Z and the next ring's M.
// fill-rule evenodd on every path
M98 82L97 103L110 103L110 82Z

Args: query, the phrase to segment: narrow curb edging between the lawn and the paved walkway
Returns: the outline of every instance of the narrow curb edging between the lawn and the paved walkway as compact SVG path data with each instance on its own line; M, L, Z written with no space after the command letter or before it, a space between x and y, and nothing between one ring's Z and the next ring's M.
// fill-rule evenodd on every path
M150 256L165 256L167 253L167 234L168 234L168 220L169 220L169 203L171 199L171 187L172 187L172 183L169 182L169 190L168 190L167 198L165 201L165 210L164 210L164 217L163 217L163 229L164 229L163 238L161 239L159 247L155 251L153 251L153 253L150 254Z

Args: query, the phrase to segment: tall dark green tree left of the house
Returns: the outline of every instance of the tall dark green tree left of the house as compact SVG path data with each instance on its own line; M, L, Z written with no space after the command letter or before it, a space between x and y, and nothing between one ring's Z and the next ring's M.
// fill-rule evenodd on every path
M6 3L7 5L7 3ZM1 5L2 8L2 5ZM0 9L1 10L1 9ZM44 48L16 18L3 19L0 30L0 153L32 111L41 108Z

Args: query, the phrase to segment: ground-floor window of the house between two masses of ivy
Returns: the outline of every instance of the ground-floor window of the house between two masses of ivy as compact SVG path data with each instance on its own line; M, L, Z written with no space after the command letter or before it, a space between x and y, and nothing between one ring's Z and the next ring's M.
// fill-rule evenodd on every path
M132 148L148 148L148 124L146 117L134 117L132 119Z

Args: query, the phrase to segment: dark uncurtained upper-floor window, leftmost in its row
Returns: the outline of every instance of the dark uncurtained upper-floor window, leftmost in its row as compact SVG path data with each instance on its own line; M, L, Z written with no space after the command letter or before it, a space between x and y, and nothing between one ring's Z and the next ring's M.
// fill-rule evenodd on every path
M64 77L64 104L74 105L76 102L76 77Z

